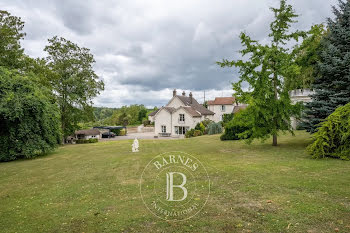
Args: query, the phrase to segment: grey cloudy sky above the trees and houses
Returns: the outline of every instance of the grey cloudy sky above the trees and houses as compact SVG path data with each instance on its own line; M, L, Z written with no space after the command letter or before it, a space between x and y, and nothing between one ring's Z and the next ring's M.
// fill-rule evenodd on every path
M332 16L336 0L289 0L306 30ZM27 54L46 56L55 35L90 48L105 82L96 106L162 106L172 89L203 101L232 95L237 71L215 62L238 58L238 35L266 40L269 6L278 0L1 0L0 9L25 21Z

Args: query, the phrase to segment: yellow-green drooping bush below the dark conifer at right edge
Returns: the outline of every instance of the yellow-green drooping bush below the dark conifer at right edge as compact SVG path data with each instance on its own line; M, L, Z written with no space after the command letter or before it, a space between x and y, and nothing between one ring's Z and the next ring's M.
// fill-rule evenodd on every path
M307 151L313 158L350 160L350 103L337 108L320 124Z

